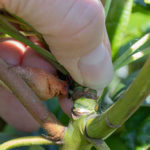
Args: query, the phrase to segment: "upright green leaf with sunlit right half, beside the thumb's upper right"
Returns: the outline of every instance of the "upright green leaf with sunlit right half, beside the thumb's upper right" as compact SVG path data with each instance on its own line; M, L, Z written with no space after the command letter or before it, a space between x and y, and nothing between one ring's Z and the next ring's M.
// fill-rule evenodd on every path
M109 11L107 19L107 29L112 45L113 59L118 55L119 48L122 44L122 39L129 23L133 0L115 0Z

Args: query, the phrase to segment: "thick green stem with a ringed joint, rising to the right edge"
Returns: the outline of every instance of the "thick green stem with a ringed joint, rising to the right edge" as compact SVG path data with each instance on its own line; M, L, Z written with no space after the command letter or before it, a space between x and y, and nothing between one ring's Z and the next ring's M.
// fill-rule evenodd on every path
M101 116L89 118L86 125L91 138L106 139L120 127L150 93L150 58L124 95Z

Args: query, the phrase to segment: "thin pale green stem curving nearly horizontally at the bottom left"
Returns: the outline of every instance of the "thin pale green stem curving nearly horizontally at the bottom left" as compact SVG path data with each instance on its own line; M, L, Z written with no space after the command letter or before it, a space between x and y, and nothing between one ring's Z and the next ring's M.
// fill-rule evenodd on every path
M9 150L16 147L31 145L55 145L55 143L41 136L21 137L1 144L0 150Z

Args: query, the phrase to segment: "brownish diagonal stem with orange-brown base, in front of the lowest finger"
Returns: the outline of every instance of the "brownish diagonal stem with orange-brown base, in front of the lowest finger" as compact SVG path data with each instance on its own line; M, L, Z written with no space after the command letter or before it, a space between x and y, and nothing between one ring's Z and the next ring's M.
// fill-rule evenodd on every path
M25 81L13 70L9 69L2 59L0 59L0 80L11 89L28 112L46 130L52 140L57 141L63 138L65 127L48 111Z

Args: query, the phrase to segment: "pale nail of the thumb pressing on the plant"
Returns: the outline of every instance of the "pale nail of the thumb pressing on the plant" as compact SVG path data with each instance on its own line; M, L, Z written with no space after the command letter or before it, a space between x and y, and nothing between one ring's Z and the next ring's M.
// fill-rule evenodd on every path
M78 67L84 85L90 88L103 89L112 80L112 61L103 42L93 52L81 57Z

